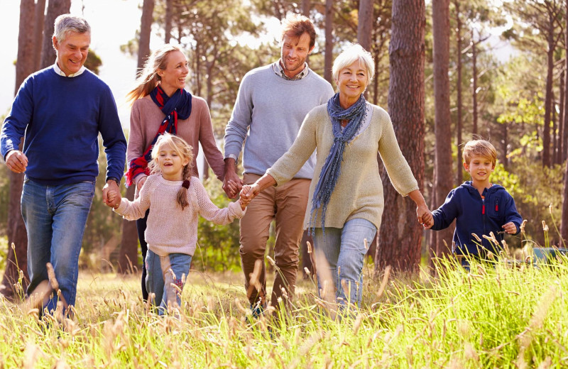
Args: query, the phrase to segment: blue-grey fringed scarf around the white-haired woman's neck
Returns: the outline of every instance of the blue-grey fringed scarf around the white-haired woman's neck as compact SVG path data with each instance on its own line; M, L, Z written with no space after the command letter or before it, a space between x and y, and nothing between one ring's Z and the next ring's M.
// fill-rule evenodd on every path
M327 114L332 121L334 141L331 150L329 150L329 155L325 159L320 180L317 182L312 198L309 227L311 234L314 234L318 213L322 214L322 228L324 228L327 204L329 204L329 199L332 197L332 192L341 173L345 145L355 137L361 123L365 120L366 100L361 94L355 104L349 106L348 109L343 109L339 105L339 93L337 93L327 101ZM342 121L344 120L348 122L342 131Z

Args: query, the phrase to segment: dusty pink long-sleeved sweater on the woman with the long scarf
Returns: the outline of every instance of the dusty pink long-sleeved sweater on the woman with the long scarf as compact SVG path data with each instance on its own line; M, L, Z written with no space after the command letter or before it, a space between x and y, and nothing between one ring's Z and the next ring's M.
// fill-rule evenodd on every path
M190 117L178 121L178 134L176 136L183 138L187 143L192 145L194 154L192 175L199 177L199 173L197 172L197 153L199 153L199 144L201 143L207 163L212 168L217 178L223 180L225 170L223 154L219 148L217 148L217 143L215 143L207 102L201 97L193 95L191 104ZM158 105L152 101L149 95L134 101L130 114L129 145L126 150L126 165L129 165L131 160L142 156L146 148L148 148L148 145L150 145L154 139L155 134L158 132L158 127L164 118L165 115L160 108L158 108ZM143 177L145 177L145 175L138 175L134 178L134 183L138 183Z

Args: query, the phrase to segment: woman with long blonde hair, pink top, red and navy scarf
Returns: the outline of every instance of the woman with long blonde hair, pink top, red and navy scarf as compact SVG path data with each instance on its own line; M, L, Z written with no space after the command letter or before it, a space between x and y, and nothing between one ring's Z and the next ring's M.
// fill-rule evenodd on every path
M224 179L223 155L215 142L207 102L184 89L189 72L187 58L182 50L175 45L163 45L148 57L133 89L126 95L126 99L133 102L126 151L126 185L136 184L136 196L150 173L148 163L151 161L153 145L165 132L180 136L192 146L195 154L192 159L193 176L199 176L196 158L201 143L207 163L219 180ZM146 260L148 250L144 241L147 219L148 212L143 219L136 221L143 260ZM144 264L144 300L148 299L145 279Z

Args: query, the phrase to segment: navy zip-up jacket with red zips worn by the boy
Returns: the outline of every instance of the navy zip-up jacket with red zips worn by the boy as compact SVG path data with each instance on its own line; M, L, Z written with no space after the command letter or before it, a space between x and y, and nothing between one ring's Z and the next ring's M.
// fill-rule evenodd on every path
M483 235L489 236L493 232L497 241L503 240L504 224L512 221L520 231L523 218L517 211L515 200L502 186L493 184L484 189L484 198L479 191L471 185L471 181L464 182L461 186L452 189L446 197L446 201L439 209L432 212L434 226L432 229L439 231L447 228L456 219L456 231L454 232L455 248L457 254L479 255L479 241L471 236L475 233L481 238L482 246L486 250L498 253L501 248L495 248Z

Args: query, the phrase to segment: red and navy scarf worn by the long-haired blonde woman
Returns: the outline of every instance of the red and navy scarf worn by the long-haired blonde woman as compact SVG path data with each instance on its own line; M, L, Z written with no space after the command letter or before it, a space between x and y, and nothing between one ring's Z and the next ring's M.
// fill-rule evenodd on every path
M143 155L131 160L129 170L125 175L126 187L133 184L133 180L137 175L141 173L150 175L148 163L152 160L152 148L154 147L155 141L158 141L158 137L164 132L176 135L178 133L178 118L187 119L191 114L191 94L185 91L185 89L178 89L171 97L168 97L158 84L150 93L150 97L152 101L158 105L162 113L165 114L165 118L163 122L160 123L158 133L155 134L152 143L146 148Z

